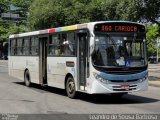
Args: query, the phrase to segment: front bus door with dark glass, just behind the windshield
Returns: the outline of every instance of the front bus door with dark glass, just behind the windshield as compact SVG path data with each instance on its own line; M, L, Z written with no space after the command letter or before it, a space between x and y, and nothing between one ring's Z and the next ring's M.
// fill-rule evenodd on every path
M87 61L88 61L88 40L87 32L78 33L78 80L79 89L85 90L87 77Z

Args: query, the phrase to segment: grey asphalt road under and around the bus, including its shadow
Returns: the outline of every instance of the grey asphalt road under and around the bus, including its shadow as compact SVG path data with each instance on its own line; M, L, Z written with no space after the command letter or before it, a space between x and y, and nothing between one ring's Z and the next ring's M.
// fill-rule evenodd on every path
M8 76L7 64L0 63L0 113L11 114L90 114L159 113L160 88L125 95L80 94L70 99L65 91L51 87L25 87L21 80Z

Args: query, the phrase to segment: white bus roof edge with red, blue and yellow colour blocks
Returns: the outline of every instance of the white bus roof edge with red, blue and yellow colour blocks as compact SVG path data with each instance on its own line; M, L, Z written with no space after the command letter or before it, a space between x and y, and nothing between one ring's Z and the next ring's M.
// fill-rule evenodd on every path
M116 22L133 23L133 24L142 25L140 23L130 22L130 21L99 21L99 22L89 22L89 23L84 23L84 24L76 24L76 25L71 25L71 26L50 28L50 29L26 32L26 33L20 33L20 34L13 34L13 35L10 35L9 38L18 38L18 37L41 35L41 34L54 33L54 32L63 32L63 31L69 31L69 30L85 29L85 28L89 28L90 26L94 26L97 23L116 23Z

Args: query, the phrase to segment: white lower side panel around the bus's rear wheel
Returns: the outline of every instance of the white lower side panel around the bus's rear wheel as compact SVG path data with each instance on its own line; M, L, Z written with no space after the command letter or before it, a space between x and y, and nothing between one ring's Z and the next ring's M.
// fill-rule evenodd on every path
M38 57L9 56L9 75L24 80L24 72L28 69L31 82L39 83L39 62Z

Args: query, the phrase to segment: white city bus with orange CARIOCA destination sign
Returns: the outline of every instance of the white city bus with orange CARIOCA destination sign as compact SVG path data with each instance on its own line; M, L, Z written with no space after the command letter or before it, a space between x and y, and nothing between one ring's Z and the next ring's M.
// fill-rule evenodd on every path
M89 94L123 95L148 88L145 26L102 21L9 37L9 75Z

